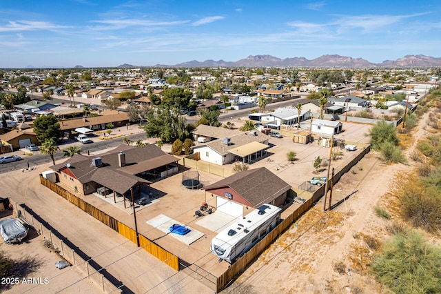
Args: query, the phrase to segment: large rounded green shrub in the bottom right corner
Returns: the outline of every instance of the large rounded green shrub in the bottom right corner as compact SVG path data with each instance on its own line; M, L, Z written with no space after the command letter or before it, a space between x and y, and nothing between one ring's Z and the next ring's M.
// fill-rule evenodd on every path
M415 231L393 235L373 259L371 271L393 293L441 293L441 249Z

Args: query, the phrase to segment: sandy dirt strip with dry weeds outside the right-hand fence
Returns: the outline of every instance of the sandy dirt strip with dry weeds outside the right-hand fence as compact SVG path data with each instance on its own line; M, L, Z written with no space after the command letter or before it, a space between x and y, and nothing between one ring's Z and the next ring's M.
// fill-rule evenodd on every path
M427 133L426 119L413 130L407 155ZM415 163L384 165L378 156L369 153L335 186L333 199L351 196L331 211L318 202L223 293L383 293L367 265L391 221L373 207L384 205L394 180Z

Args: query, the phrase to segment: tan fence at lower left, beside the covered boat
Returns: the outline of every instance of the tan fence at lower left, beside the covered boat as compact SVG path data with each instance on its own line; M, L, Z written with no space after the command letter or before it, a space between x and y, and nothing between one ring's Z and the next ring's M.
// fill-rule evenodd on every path
M21 219L24 219L25 222L32 225L37 233L43 236L46 242L50 242L47 245L45 244L46 246L49 245L50 247L52 247L52 250L54 252L61 255L70 264L76 266L76 268L79 268L80 271L86 274L85 277L87 277L88 280L92 281L93 284L98 286L104 293L122 293L120 288L107 280L107 278L99 271L96 271L95 268L90 265L89 261L83 259L83 257L78 255L75 252L74 248L72 248L68 244L65 244L63 240L52 233L49 228L47 228L37 219L34 219L34 217L30 213L26 213L26 209L21 206L21 204L17 204L17 202L14 202L12 199L10 199L10 201L15 208L14 213L15 211L17 211L17 215L19 215ZM58 234L61 235L60 233Z

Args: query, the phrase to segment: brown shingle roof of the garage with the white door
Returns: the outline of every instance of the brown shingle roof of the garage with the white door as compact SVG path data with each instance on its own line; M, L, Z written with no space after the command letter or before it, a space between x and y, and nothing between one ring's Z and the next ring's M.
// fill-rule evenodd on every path
M271 202L291 188L283 179L262 167L236 173L212 185L205 186L204 189L212 190L227 186L247 199L254 207Z

